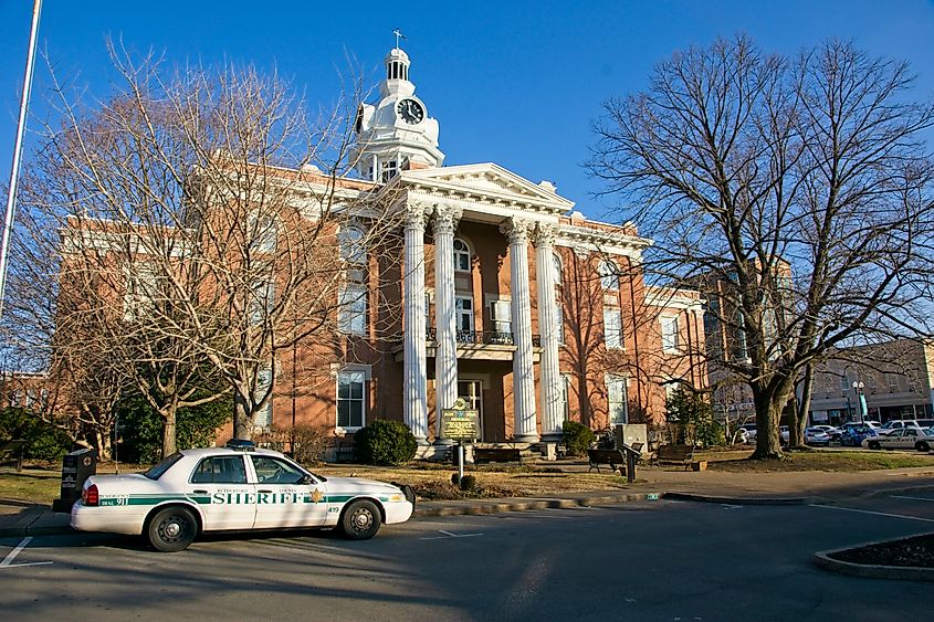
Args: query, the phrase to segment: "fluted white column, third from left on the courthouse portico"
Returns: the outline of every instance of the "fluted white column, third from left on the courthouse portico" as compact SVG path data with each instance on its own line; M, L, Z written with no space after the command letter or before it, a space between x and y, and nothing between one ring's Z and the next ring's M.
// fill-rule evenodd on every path
M510 278L512 282L513 398L515 437L521 443L537 443L535 422L535 376L532 368L532 299L528 288L528 223L512 219L501 231L510 239Z

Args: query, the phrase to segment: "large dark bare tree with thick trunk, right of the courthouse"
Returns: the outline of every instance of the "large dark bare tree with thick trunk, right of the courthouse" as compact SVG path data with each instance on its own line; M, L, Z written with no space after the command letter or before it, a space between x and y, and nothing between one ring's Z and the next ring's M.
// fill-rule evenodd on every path
M744 341L717 366L752 391L756 457L828 349L926 330L934 106L906 64L830 41L796 59L739 36L679 52L643 93L611 99L590 171L657 239L650 262L714 291Z

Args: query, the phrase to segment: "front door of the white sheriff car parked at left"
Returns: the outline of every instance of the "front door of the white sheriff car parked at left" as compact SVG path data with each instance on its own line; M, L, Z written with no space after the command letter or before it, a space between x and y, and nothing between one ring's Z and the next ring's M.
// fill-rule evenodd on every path
M256 475L256 529L319 527L327 516L323 482L292 462L272 455L250 455Z

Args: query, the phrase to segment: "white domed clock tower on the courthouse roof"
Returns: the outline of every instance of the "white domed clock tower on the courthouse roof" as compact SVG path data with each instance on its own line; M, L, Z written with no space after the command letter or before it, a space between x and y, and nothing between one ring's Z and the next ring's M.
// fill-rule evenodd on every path
M414 96L416 85L409 82L409 55L397 45L384 63L380 101L360 104L354 126L357 171L378 182L389 181L409 166L434 168L444 161L438 148L438 120L428 116L424 103Z

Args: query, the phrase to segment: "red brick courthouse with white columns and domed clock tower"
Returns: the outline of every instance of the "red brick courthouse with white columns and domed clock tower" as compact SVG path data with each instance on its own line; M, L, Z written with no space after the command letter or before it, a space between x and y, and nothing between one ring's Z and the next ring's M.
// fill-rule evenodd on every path
M439 409L463 398L485 442L555 441L567 419L663 424L667 391L706 383L697 293L647 287L651 241L630 223L587 220L553 183L496 164L443 166L408 55L397 48L385 63L379 101L356 120L357 186L391 197L401 256L377 261L353 225L340 232L355 294L340 312L343 357L297 352L333 381L298 396L276 388L264 423L294 417L348 435L396 419L428 446L443 444Z

